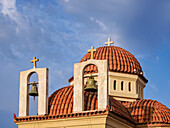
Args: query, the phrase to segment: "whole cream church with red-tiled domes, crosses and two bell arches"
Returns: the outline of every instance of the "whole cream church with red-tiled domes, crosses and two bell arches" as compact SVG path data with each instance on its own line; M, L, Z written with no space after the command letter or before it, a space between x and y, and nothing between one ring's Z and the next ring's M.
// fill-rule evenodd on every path
M113 43L91 47L70 85L50 96L48 68L37 68L34 57L33 68L20 72L18 128L170 128L170 109L143 98L148 80L138 60ZM30 83L34 73L38 81ZM37 115L29 115L30 96L38 97Z

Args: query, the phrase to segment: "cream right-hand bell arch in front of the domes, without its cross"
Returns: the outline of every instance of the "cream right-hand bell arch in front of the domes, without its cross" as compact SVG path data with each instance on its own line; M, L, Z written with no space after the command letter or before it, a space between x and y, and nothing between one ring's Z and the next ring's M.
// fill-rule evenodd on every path
M73 112L82 112L84 110L83 72L91 64L96 65L98 68L98 110L106 109L108 105L108 60L90 59L74 64Z

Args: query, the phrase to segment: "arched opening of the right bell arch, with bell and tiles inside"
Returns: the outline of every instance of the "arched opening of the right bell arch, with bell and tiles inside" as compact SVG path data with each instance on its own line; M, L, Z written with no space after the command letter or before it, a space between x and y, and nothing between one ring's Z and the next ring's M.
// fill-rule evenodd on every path
M83 69L84 111L96 110L98 89L98 68L89 64Z

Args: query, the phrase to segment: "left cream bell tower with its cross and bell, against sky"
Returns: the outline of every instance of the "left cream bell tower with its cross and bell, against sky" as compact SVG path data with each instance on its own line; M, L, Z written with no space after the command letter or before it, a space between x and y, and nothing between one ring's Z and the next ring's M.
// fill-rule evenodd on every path
M33 68L20 72L19 117L29 116L29 95L38 96L38 115L48 113L48 68L36 68L39 59L33 57ZM32 74L38 74L38 81L29 83ZM38 83L38 90L36 84ZM29 86L31 92L29 93Z

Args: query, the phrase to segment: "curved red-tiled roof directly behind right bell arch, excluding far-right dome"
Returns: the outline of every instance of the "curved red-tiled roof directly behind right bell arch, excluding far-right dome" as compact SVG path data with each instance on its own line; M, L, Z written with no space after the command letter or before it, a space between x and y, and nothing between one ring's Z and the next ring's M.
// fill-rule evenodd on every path
M55 91L49 97L49 115L62 115L73 113L73 86L67 86ZM84 110L97 110L97 92L84 92ZM131 115L125 106L109 96L109 111L132 121Z

